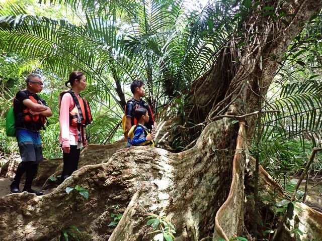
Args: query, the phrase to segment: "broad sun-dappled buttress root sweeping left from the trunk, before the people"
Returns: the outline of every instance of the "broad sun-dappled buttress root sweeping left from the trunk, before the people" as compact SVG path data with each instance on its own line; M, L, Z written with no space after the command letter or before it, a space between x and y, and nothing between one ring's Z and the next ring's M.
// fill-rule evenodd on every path
M214 215L229 191L231 176L226 174L232 171L235 146L229 136L234 132L236 128L223 119L208 125L188 151L121 149L107 163L74 172L48 195L5 196L0 199L0 226L5 230L1 235L9 240L50 240L74 224L93 234L93 240L150 240L146 213L164 210L174 220L177 240L200 240L212 234ZM88 201L64 191L75 185L89 190ZM125 211L111 235L107 225L116 204Z

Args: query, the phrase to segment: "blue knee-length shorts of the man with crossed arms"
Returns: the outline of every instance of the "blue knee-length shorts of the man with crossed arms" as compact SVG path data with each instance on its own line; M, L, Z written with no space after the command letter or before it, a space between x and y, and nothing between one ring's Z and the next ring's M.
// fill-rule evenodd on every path
M16 135L22 161L35 163L42 162L43 156L39 132L17 129Z

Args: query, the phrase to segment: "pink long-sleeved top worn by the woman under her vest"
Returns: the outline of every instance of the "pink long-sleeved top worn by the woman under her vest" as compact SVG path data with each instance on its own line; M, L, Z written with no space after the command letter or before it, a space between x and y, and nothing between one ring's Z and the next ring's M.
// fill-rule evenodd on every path
M77 96L78 101L82 101L82 98ZM77 146L77 148L83 147L82 142L78 143L77 127L69 125L69 112L74 108L75 103L70 93L65 93L62 96L59 112L59 124L60 135L59 142L61 147L70 147L70 145ZM83 141L83 140L82 140Z

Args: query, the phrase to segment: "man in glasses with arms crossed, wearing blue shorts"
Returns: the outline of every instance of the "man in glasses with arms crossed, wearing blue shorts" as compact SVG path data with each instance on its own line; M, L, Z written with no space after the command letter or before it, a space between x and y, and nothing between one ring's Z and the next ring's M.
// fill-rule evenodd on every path
M27 89L20 90L14 99L16 117L16 136L22 162L18 165L15 179L10 185L11 193L21 192L20 179L26 172L25 187L22 191L42 195L42 190L31 188L36 176L38 164L43 161L39 130L44 128L46 117L51 116L51 109L37 95L42 91L43 82L39 74L30 74L26 78Z

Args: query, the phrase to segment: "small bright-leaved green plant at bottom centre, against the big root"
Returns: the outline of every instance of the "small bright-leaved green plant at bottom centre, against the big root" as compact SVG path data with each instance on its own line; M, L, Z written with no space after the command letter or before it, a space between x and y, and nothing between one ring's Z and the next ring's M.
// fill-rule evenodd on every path
M161 212L159 215L154 213L148 213L147 215L148 221L146 222L146 225L152 228L152 231L148 232L148 234L153 233L153 240L173 241L176 239L174 236L176 233L175 226L164 212Z

